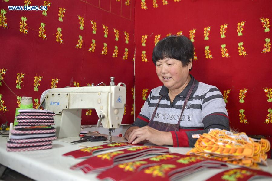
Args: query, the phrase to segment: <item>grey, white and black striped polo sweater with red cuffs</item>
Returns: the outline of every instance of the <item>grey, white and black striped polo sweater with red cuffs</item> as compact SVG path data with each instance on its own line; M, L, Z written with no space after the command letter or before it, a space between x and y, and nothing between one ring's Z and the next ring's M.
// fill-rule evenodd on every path
M195 80L195 88L180 117L185 97L193 84L194 77L186 88L170 102L168 89L159 86L151 90L141 112L132 126L146 126L158 104L154 121L177 124L180 120L179 131L170 131L174 147L194 147L197 139L192 134L208 133L210 128L229 130L229 119L226 104L218 88Z

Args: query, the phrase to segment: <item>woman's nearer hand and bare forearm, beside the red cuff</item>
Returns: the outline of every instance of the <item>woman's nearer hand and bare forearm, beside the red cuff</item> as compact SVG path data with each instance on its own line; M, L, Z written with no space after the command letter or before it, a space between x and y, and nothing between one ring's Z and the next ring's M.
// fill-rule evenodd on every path
M158 131L149 126L133 129L129 135L128 142L137 144L144 140L159 146L173 145L173 138L170 132Z

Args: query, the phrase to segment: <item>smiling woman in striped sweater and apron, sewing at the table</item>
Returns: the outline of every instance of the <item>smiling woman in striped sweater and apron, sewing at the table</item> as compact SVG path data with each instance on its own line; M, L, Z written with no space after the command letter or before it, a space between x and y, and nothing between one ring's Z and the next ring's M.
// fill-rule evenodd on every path
M229 130L226 104L218 88L194 79L194 46L185 36L159 41L152 60L163 86L151 90L134 124L125 133L129 143L193 147L192 134L210 128Z

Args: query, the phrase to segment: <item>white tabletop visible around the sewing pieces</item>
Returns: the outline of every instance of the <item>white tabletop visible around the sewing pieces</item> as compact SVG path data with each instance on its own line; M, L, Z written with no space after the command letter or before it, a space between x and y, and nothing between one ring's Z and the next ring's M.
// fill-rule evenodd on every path
M66 141L75 141L79 137L67 138ZM97 174L84 174L81 170L70 170L70 167L84 159L64 157L62 154L80 149L80 144L70 144L64 141L53 141L53 148L25 152L7 152L8 137L0 136L0 163L25 176L35 180L98 180ZM86 146L98 146L104 142L86 142ZM168 147L170 152L186 154L191 148ZM267 160L268 166L260 166L262 170L272 173L272 160ZM237 166L229 165L227 169ZM184 177L183 180L206 180L224 169L206 169ZM260 180L260 179L258 179ZM262 179L270 180L270 179Z

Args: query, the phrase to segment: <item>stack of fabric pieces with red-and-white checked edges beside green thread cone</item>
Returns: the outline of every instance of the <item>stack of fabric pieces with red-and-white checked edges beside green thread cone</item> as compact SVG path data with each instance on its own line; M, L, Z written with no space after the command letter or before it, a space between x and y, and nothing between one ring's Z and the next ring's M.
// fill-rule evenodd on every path
M52 148L56 139L54 112L38 109L21 109L16 116L18 125L11 130L7 151L31 151Z

